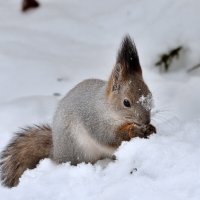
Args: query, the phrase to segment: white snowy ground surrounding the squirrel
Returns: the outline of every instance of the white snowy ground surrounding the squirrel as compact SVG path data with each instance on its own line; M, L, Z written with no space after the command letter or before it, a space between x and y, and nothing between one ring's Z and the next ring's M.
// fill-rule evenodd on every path
M27 14L20 2L0 0L0 150L18 127L51 123L58 100L79 81L107 79L125 33L154 94L158 133L123 143L105 168L45 159L18 187L0 186L0 198L199 200L200 76L186 69L200 62L200 2L41 0ZM160 74L158 55L178 45L180 60Z

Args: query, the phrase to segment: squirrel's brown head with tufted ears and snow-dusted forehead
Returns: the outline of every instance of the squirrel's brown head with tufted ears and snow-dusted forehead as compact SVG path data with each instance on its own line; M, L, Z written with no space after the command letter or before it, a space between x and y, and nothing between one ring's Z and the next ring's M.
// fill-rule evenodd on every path
M138 125L150 123L152 94L143 80L137 49L130 36L122 41L106 96L121 119Z

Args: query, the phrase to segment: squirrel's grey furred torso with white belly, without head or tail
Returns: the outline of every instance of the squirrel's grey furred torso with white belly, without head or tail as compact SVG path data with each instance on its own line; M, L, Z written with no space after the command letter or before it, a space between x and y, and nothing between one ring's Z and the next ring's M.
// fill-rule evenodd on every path
M85 80L59 103L52 131L52 158L56 162L77 164L112 157L115 148L109 139L114 121L109 123L107 116L106 84L98 79Z

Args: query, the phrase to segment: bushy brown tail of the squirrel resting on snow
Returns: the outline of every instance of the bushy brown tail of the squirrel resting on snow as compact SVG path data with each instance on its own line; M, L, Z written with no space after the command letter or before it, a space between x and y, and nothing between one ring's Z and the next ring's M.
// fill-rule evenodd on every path
M22 129L1 153L1 181L7 187L16 186L26 169L33 169L41 159L49 157L52 130L49 126Z

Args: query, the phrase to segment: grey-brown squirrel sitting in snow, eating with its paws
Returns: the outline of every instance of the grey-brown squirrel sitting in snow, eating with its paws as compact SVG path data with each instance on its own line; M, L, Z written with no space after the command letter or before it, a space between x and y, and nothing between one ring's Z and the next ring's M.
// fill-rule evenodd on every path
M12 139L1 153L2 184L17 186L23 172L44 158L71 165L115 159L122 141L156 133L151 108L135 43L125 35L108 81L80 82L59 102L52 127L24 128Z

